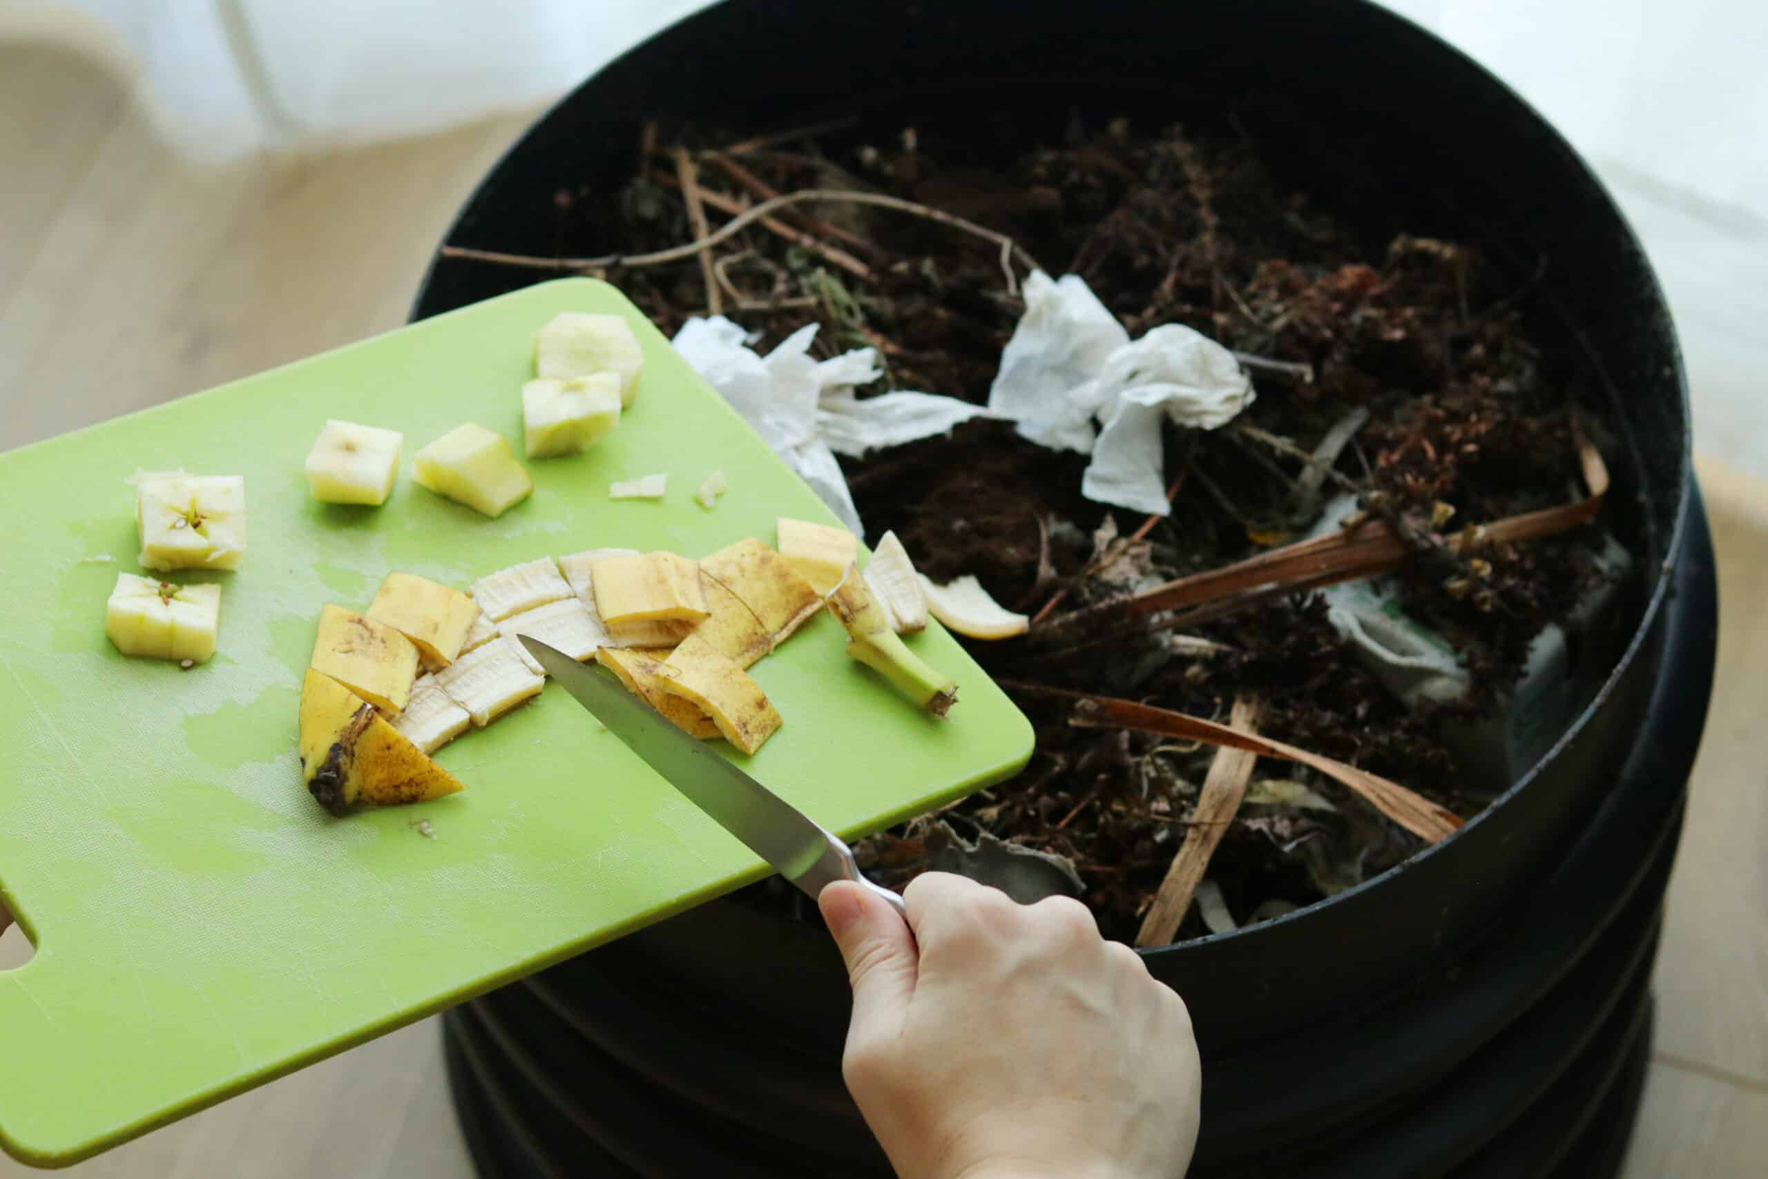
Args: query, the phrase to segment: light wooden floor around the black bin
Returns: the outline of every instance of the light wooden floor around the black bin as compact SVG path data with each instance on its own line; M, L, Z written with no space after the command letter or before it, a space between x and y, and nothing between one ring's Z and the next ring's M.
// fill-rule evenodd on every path
M103 72L0 46L0 449L396 327L453 210L523 124L198 170ZM1718 693L1669 894L1630 1179L1768 1174L1768 730L1754 704L1768 486L1711 463L1701 475L1720 555ZM25 1174L39 1172L0 1156L0 1179ZM67 1174L472 1168L426 1022Z

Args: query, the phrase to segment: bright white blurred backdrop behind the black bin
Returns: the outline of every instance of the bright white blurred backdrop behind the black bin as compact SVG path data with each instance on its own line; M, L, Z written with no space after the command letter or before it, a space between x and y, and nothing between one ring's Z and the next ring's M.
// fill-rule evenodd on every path
M840 0L831 0L840 2ZM1696 445L1768 475L1768 5L1386 0L1505 78L1602 171L1676 313ZM203 159L421 134L552 99L705 0L0 0Z

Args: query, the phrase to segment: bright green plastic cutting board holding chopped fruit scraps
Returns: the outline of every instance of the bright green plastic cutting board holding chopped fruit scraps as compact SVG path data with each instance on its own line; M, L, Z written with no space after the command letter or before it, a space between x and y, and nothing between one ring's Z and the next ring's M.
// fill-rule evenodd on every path
M534 495L499 520L412 483L412 454L461 421L522 453L534 331L566 309L621 313L644 345L619 430L527 461ZM327 417L405 433L385 506L309 498ZM219 649L187 672L104 636L117 574L140 573L124 481L177 467L242 474L248 509L244 566L184 578L223 585ZM705 511L713 468L730 491ZM665 500L608 498L651 472ZM592 546L771 544L781 514L836 523L605 283L529 286L0 454L0 896L37 946L0 972L0 1142L25 1161L78 1161L769 873L555 686L437 753L461 794L339 820L301 783L320 606L366 608L389 569L467 585ZM785 726L753 758L718 742L812 818L854 838L1029 758L1025 718L937 624L911 642L958 682L944 723L843 642L822 613L755 665Z

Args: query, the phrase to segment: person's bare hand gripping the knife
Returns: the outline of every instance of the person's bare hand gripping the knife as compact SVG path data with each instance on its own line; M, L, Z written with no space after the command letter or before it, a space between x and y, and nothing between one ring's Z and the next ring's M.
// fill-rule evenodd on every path
M845 880L817 900L854 988L842 1073L900 1179L1185 1174L1190 1015L1084 905L941 871L907 924Z

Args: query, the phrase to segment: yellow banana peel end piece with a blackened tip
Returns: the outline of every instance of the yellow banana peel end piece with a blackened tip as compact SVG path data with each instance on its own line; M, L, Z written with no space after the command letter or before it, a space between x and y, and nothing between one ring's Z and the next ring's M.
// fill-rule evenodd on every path
M426 802L467 788L368 700L313 668L301 686L301 776L332 815Z

